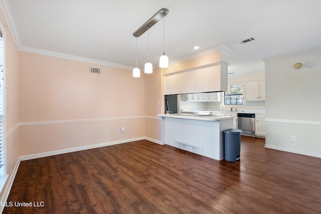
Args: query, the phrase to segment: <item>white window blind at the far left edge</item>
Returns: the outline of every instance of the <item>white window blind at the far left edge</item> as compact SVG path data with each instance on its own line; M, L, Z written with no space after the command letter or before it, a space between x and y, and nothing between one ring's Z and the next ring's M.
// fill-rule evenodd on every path
M4 165L4 43L0 31L0 168Z

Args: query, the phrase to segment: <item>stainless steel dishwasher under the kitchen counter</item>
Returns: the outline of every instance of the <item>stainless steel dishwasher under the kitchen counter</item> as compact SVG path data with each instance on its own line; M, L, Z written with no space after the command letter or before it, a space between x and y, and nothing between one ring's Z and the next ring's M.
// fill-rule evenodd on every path
M255 114L238 113L237 128L241 129L244 135L255 136Z

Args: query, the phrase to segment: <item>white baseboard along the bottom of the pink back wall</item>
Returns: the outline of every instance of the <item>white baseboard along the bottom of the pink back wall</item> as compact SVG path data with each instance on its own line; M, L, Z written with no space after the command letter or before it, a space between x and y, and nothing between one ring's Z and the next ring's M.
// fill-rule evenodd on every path
M98 143L98 144L79 146L79 147L73 147L68 149L61 149L61 150L42 152L37 154L24 155L20 157L20 160L31 160L31 159L40 158L40 157L48 157L48 156L57 155L57 154L65 154L69 152L82 151L86 149L99 148L99 147L110 146L110 145L115 145L120 143L128 143L128 142L144 140L144 139L145 137L136 137L136 138L130 138L125 140L116 140L116 141L105 142L105 143Z

